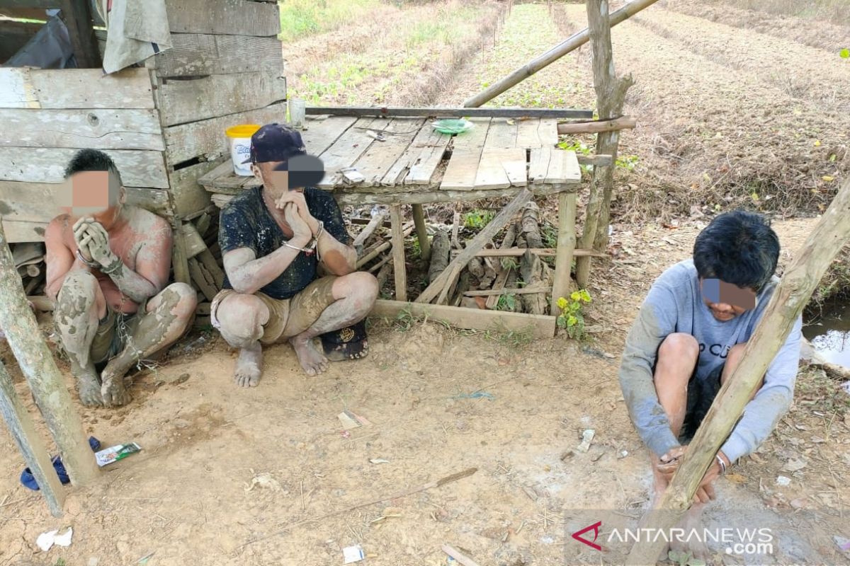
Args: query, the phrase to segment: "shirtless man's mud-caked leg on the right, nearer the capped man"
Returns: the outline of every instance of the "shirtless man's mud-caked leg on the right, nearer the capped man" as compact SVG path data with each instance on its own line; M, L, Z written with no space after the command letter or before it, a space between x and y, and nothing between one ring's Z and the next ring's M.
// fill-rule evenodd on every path
M106 406L124 405L130 400L124 388L124 374L134 363L176 342L189 327L196 305L195 290L186 283L172 283L148 301L133 334L127 336L124 350L100 374Z

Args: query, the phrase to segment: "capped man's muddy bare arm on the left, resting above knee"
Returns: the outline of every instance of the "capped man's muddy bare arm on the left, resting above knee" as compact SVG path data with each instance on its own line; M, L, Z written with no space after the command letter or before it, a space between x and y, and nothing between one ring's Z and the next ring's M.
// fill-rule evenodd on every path
M303 248L309 240L292 238L296 248ZM224 272L230 285L237 293L254 294L280 276L301 252L288 246L280 246L269 255L257 259L251 248L231 249L224 253Z

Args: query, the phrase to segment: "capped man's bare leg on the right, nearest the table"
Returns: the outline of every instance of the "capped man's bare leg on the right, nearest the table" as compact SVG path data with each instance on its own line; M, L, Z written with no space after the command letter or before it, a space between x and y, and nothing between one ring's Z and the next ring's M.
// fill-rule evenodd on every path
M313 339L363 320L377 299L377 279L371 273L350 273L337 277L332 292L336 302L322 311L310 328L289 339L307 375L318 375L327 369L327 358L316 349Z

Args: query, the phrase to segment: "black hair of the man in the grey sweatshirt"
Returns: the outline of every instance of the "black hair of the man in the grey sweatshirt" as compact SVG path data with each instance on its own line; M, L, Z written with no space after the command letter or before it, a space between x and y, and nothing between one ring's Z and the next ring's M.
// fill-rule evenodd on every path
M766 216L733 210L719 215L696 237L694 266L700 277L716 277L757 292L779 262L779 238Z

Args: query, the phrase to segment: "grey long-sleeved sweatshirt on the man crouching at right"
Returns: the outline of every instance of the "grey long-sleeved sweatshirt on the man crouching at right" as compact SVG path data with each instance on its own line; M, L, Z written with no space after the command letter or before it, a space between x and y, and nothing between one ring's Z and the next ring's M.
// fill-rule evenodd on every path
M757 295L755 309L720 322L711 316L702 300L693 260L677 263L655 280L626 338L620 385L632 423L649 450L657 456L679 446L653 383L655 357L661 342L674 332L694 336L700 343L700 361L694 377L705 379L723 364L732 346L750 339L778 283L779 278L771 278ZM723 453L730 462L756 450L791 405L800 358L801 328L802 317L794 322L788 339L768 367L762 389L747 404L744 416L723 445Z

